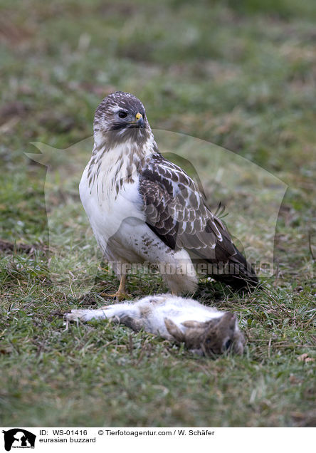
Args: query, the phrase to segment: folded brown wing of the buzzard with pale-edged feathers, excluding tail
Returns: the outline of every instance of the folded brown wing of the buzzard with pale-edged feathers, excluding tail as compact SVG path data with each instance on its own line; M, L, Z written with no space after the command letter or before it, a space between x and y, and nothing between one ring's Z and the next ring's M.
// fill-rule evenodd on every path
M206 206L193 179L160 154L139 177L148 226L174 250L209 261L227 261L236 249L223 223Z

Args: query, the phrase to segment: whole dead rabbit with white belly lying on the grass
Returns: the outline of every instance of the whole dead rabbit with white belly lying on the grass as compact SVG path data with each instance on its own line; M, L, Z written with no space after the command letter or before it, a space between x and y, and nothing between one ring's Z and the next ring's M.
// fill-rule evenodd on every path
M72 310L66 321L109 319L133 330L144 329L167 340L184 342L199 355L214 355L231 349L242 354L245 343L236 316L201 305L190 298L164 294L146 296L136 302L122 302L96 310Z

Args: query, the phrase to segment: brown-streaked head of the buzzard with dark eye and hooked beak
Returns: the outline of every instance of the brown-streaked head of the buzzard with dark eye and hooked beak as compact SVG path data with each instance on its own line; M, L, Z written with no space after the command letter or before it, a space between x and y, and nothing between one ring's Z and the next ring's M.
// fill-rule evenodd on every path
M144 138L149 134L150 126L140 100L130 93L115 91L95 110L93 130L95 140L122 142L129 138Z

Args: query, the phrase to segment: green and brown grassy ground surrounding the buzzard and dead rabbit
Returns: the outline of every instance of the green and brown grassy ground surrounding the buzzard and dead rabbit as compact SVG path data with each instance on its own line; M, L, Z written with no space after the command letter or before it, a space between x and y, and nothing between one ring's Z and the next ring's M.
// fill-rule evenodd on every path
M315 3L0 6L0 425L315 426ZM274 237L268 214L252 219L253 179L226 193L211 157L196 148L196 162L209 165L202 181L209 197L219 187L230 212L238 203L250 219L236 227L227 217L238 238L256 228L257 255L274 241L276 272L262 291L242 297L201 281L195 295L238 313L248 339L243 357L194 358L100 322L63 330L60 313L96 306L102 289L117 286L105 266L94 267L78 200L88 147L67 155L70 167L56 152L45 192L46 167L24 153L36 152L30 142L65 149L89 137L96 105L115 89L144 101L152 127L226 147L288 186ZM129 290L165 288L159 277L140 284L132 276Z

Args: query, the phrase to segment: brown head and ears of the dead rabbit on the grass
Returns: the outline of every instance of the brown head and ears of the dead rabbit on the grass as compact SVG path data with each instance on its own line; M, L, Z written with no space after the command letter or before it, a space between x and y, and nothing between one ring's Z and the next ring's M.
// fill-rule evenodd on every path
M186 348L199 355L218 355L232 350L242 354L245 339L238 328L236 316L226 312L220 318L211 321L185 321L182 325L185 333L172 323L165 320L169 333L177 341L184 341Z

